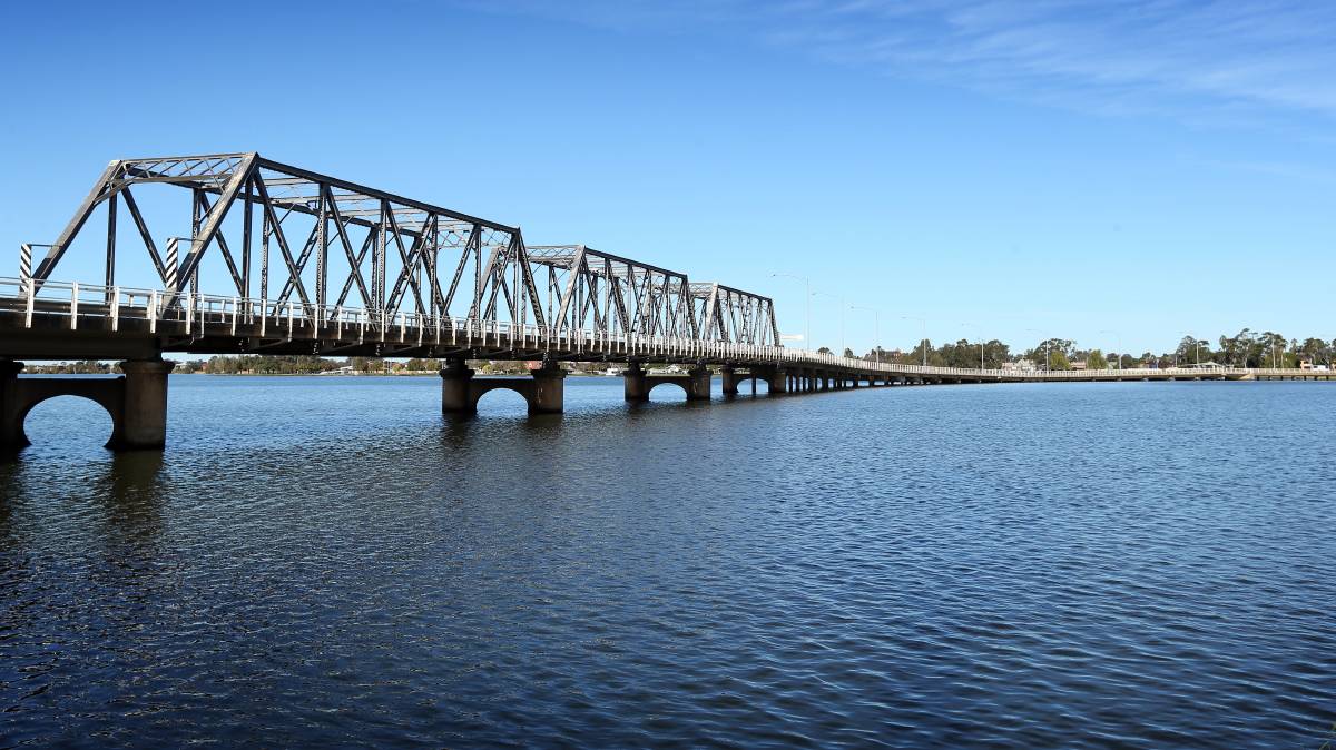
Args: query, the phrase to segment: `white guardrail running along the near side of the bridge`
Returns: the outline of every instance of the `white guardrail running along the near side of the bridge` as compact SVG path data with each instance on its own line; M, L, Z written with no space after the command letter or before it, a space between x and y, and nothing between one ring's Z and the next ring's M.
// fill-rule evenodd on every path
M510 348L552 351L566 354L597 352L628 356L704 358L766 364L791 364L832 370L858 370L891 375L921 375L943 378L997 378L1025 380L1117 380L1124 378L1202 378L1202 376L1327 376L1336 372L1284 367L1169 367L1128 370L997 370L966 367L933 367L921 364L892 364L859 358L822 354L808 350L741 344L733 342L701 342L675 336L648 336L640 334L611 334L569 330L530 323L484 322L476 318L432 316L420 312L377 314L363 308L342 306L314 306L295 300L273 300L238 296L204 295L179 291L104 287L71 282L40 282L32 279L0 278L0 300L8 312L21 312L24 327L31 328L35 315L63 315L69 319L69 330L77 330L80 318L102 318L107 328L120 330L122 320L147 320L148 331L158 332L159 323L171 323L171 332L192 336L222 335L219 328L236 335L251 335L259 326L259 335L269 338L294 336L298 330L310 338L314 327L339 339L357 336L361 342L417 343L417 344L470 344L473 339L501 346L502 338ZM182 331L180 326L184 326ZM333 330L333 331L331 331ZM460 340L462 336L462 342Z

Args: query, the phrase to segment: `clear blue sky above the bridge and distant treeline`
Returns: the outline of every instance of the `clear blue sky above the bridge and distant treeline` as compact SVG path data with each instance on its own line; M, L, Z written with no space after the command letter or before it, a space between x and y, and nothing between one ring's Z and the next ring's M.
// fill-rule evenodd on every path
M1336 4L128 5L0 8L0 275L112 159L258 151L812 347L1336 338Z

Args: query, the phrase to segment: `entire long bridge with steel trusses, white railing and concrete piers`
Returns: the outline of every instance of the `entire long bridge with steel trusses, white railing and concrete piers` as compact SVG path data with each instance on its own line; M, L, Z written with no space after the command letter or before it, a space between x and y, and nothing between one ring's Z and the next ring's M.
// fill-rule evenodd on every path
M91 228L95 215L104 231ZM72 255L102 266L99 283L55 275ZM65 394L107 408L110 447L162 447L167 352L442 359L442 410L465 414L494 388L520 392L530 412L560 412L561 362L625 363L633 402L664 383L709 399L712 370L725 395L748 382L755 392L756 380L771 394L806 394L1329 378L1284 368L969 370L796 350L780 346L764 295L582 244L526 246L518 227L254 152L112 161L51 244L20 247L19 275L0 278L0 448L27 444L28 411ZM33 359L116 359L124 375L20 376L20 360ZM466 362L478 359L538 366L528 378L474 378ZM685 374L656 375L649 364Z

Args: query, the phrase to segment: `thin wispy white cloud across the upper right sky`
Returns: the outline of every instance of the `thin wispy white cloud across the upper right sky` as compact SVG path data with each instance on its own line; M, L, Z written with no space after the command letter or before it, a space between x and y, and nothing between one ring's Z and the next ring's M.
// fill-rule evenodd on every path
M473 7L619 31L727 33L882 75L1098 113L1232 124L1336 117L1336 3L513 0Z

